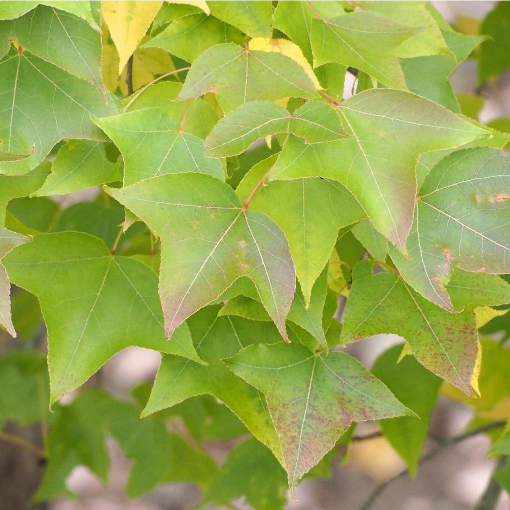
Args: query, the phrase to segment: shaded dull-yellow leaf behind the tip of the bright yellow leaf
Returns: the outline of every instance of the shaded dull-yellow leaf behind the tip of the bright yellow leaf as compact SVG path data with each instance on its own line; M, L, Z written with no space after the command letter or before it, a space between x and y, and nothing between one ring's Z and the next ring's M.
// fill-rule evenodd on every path
M103 82L108 90L120 89L127 95L126 69L118 75L119 57L107 29L103 33ZM138 90L157 76L174 70L168 53L159 48L138 48L133 55L133 90Z

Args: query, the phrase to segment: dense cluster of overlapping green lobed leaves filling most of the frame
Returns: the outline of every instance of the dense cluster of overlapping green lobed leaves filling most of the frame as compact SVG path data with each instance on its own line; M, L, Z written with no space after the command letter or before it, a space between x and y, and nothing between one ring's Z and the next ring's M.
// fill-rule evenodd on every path
M425 2L2 2L0 19L0 324L15 336L9 279L15 319L37 296L58 409L38 498L77 464L105 479L107 433L135 459L131 496L189 480L279 508L283 469L294 491L365 420L416 472L441 379L482 393L477 328L510 303L508 136L448 82L483 38ZM405 347L373 373L340 348L389 333ZM147 418L94 391L56 404L133 345L163 353ZM44 370L0 364L26 395ZM31 423L31 405L0 416ZM173 415L198 443L259 442L218 468Z

